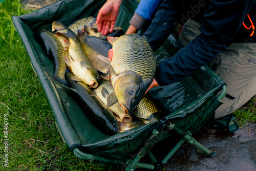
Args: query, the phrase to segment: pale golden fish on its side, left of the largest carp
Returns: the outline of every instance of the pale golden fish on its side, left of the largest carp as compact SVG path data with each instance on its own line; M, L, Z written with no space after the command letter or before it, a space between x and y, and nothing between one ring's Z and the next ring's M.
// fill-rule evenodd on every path
M80 41L74 32L67 28L58 31L56 34L64 35L69 39L63 40L69 50L69 57L65 57L64 59L75 75L72 79L82 81L92 88L98 87L100 83L99 74L84 53Z

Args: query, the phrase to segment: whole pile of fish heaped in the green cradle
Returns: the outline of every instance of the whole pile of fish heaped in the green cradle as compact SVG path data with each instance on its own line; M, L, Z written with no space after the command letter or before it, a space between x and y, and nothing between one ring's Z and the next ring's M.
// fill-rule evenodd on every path
M40 30L55 60L53 79L76 92L81 108L105 134L161 119L160 109L144 95L157 67L147 39L122 35L121 28L105 36L95 23L89 16L70 26L55 21L52 32Z

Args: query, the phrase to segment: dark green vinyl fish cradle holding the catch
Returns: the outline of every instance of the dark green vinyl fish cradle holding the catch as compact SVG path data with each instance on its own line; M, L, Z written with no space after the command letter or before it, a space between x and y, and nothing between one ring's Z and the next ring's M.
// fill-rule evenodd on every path
M156 123L148 123L114 136L103 134L97 129L97 125L88 119L90 113L80 108L74 92L52 78L55 70L53 63L47 57L45 48L34 37L40 29L51 31L54 20L70 25L75 20L97 16L104 2L63 0L30 14L13 16L12 20L48 97L60 134L71 151L78 147L83 153L125 156L145 145L145 139L152 134ZM124 33L137 6L138 2L135 0L122 2L116 27L121 27ZM182 47L182 44L170 35L156 52L158 63L173 56ZM218 98L217 94L222 91L224 85L213 71L204 66L169 86L151 89L149 94L165 111L165 119L176 123L184 131L196 133L222 103L220 99L225 92ZM159 140L170 135L166 133Z

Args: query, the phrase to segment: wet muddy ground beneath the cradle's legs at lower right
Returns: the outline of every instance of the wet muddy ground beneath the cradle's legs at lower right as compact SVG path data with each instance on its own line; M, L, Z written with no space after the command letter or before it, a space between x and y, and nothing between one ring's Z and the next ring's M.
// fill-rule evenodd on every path
M256 170L255 123L249 123L235 133L202 128L193 137L205 147L216 151L217 155L212 158L206 157L197 147L185 142L160 170ZM156 154L157 160L161 161L169 152L176 143L175 139L178 137L170 137L154 145L152 152ZM148 163L150 159L145 156L141 162Z

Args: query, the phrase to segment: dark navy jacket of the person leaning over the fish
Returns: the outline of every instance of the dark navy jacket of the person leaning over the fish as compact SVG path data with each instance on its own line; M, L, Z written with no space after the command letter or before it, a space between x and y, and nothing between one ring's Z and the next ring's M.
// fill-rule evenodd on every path
M144 35L156 51L172 28L190 18L201 23L201 34L167 58L157 68L155 79L160 86L173 83L193 73L219 53L225 52L232 42L256 42L247 14L256 26L256 0L169 0L157 9L151 26Z

